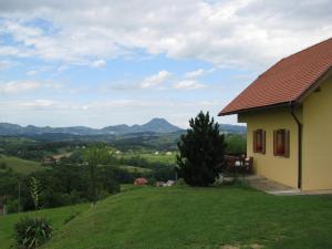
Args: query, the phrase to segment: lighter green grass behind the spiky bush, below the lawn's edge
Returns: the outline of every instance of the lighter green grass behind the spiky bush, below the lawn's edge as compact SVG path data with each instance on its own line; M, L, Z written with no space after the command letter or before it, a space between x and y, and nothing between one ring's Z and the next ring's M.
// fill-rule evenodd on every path
M56 230L59 230L64 225L64 220L68 217L76 212L82 212L87 208L89 205L84 204L84 205L76 205L70 207L45 209L40 211L40 214L44 217L48 217L51 220L53 229L56 232ZM33 215L34 212L23 212L23 214L0 216L0 248L1 249L9 249L10 246L13 243L12 232L13 232L14 224L23 216L33 216Z

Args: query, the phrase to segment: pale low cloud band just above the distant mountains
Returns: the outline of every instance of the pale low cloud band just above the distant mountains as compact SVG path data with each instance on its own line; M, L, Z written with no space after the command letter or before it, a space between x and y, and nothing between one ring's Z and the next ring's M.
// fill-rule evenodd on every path
M0 101L1 118L10 123L70 126L87 125L104 127L115 124L144 123L159 116L174 124L187 126L188 120L198 114L199 110L210 111L211 114L220 111L218 100L158 100L158 98L124 98L97 102L73 102L52 98ZM51 114L50 114L51 113ZM155 115L158 113L158 115ZM86 118L89 117L89 118ZM236 118L232 118L236 123Z

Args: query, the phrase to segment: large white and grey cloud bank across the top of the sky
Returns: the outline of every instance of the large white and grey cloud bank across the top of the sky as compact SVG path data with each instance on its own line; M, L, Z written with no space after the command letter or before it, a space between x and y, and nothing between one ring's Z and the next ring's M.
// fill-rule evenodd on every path
M1 1L8 21L0 33L15 45L1 46L0 55L86 65L138 49L217 66L267 66L330 38L331 12L330 0ZM35 18L51 28L27 24Z

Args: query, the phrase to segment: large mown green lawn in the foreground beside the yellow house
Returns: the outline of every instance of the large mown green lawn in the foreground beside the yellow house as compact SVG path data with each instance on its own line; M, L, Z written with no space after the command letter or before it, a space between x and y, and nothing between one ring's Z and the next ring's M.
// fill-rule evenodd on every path
M332 248L332 197L239 188L136 188L63 227L48 249L177 249L222 245Z

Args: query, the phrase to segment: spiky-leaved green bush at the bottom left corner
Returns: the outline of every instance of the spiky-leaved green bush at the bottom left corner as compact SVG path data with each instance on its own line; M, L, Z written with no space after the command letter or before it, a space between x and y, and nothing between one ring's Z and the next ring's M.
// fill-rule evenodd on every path
M37 248L51 237L52 227L42 217L24 217L14 226L14 239L20 249Z

